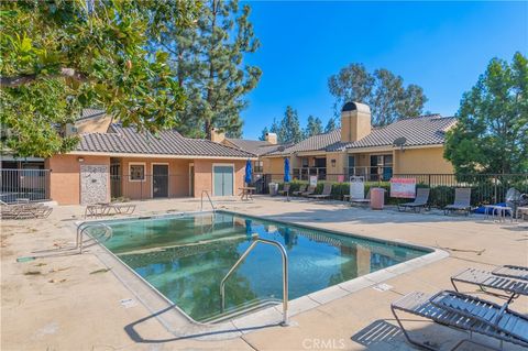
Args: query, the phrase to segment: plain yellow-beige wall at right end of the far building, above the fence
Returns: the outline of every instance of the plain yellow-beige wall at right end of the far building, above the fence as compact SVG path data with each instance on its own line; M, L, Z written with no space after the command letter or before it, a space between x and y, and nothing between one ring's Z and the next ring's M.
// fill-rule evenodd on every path
M395 151L394 164L394 173L454 173L451 163L443 158L442 146Z

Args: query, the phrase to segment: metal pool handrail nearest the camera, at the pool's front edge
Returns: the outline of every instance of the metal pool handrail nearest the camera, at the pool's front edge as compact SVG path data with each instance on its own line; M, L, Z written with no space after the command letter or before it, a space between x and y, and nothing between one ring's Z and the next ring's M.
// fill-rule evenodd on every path
M228 274L223 277L222 282L220 283L220 296L222 298L222 312L226 309L226 281L230 277L230 275L237 270L237 267L245 260L245 257L250 254L250 252L260 243L268 244L275 246L280 252L283 256L283 322L282 326L288 326L288 254L286 249L284 249L283 244L275 240L267 240L261 239L257 234L251 245L245 250L245 252L240 256L240 259L234 263L234 265L229 270Z

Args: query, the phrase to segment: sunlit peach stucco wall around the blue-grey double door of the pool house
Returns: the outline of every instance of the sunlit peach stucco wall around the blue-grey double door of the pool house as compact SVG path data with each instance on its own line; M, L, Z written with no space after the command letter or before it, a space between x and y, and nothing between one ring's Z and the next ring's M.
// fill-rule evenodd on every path
M212 164L234 165L234 193L244 186L245 161L219 161L219 160L195 160L195 197L200 197L202 190L208 190L212 196Z

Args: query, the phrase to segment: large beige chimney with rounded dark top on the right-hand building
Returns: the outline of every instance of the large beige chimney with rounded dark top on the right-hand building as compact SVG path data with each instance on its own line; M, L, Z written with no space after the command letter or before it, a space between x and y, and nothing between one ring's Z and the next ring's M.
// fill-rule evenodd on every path
M371 108L360 102L346 102L341 110L341 141L358 141L371 130Z

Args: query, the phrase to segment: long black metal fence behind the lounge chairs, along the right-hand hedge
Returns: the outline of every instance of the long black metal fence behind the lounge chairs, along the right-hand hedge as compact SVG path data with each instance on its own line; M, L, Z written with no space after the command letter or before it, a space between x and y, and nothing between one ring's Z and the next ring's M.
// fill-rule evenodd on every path
M471 201L473 206L498 204L506 201L506 193L509 188L516 188L521 194L528 194L528 174L394 174L393 177L415 178L417 187L429 187L431 189L429 201L433 207L443 207L454 200L454 189L470 187ZM319 183L331 182L334 184L332 197L342 199L349 194L349 174L326 174L324 179ZM307 183L305 179L292 179L294 183ZM267 194L270 183L284 183L284 174L260 175L260 184L255 184L257 191ZM382 178L374 180L365 177L365 193L370 187L383 187L386 189L386 202L398 204L408 199L391 198L391 183ZM318 190L322 189L319 186Z

